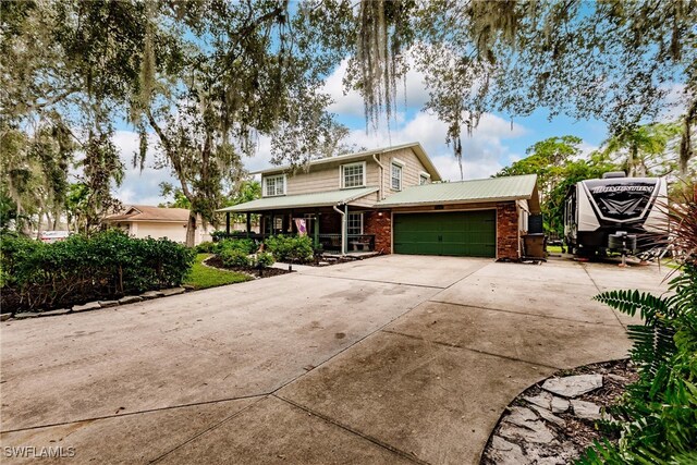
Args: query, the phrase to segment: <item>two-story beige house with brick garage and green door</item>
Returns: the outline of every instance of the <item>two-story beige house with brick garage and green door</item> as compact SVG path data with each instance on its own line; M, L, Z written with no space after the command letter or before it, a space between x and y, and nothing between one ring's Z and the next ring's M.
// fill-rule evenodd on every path
M418 143L254 174L262 197L219 211L260 215L261 237L305 220L317 244L343 253L517 259L528 215L540 212L535 175L441 183Z

